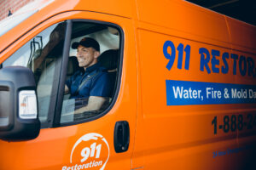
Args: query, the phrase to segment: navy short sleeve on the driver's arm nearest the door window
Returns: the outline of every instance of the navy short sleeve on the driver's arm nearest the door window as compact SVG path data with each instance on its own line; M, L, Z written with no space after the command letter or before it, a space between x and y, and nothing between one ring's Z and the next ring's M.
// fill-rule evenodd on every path
M90 96L111 97L111 83L108 72L102 72L96 77L90 88Z

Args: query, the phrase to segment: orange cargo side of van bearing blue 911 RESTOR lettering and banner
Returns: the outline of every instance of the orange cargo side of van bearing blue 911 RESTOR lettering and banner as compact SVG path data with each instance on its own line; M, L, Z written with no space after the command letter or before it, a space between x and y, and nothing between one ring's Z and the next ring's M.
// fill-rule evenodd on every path
M256 71L244 63L256 55L232 48L220 14L174 0L138 7L134 167L255 169Z

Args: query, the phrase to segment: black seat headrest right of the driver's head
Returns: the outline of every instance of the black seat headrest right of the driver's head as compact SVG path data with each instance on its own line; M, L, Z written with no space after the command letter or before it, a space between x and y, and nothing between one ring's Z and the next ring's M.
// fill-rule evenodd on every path
M114 70L118 66L119 50L108 49L104 51L98 58L98 62L108 71Z

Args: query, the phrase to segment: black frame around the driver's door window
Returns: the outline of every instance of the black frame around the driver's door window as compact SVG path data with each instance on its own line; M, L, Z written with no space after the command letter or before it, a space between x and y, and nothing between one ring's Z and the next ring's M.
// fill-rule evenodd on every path
M117 79L115 82L115 87L113 91L113 99L111 103L108 105L108 108L102 112L100 112L96 116L92 116L90 118L84 118L83 120L75 121L75 122L63 122L61 123L61 109L62 109L62 102L64 98L64 88L65 88L65 82L67 77L67 64L68 64L68 57L69 57L69 49L71 45L71 37L72 37L72 29L73 29L73 22L84 22L88 24L99 24L104 26L111 26L119 31L119 60L118 60L118 72L117 72ZM113 105L116 103L116 100L119 95L119 89L121 84L121 76L122 76L122 68L123 68L123 55L124 55L124 47L125 47L125 33L123 29L118 26L117 24L113 24L111 22L106 21L100 21L100 20L86 20L86 19L72 19L67 20L67 30L66 30L66 36L65 36L65 42L64 42L64 51L63 56L61 60L61 75L60 75L60 82L59 82L59 88L57 92L57 100L55 105L55 114L53 117L52 127L67 127L71 125L76 125L84 122L92 122L96 119L101 118L102 116L105 116L112 108Z

